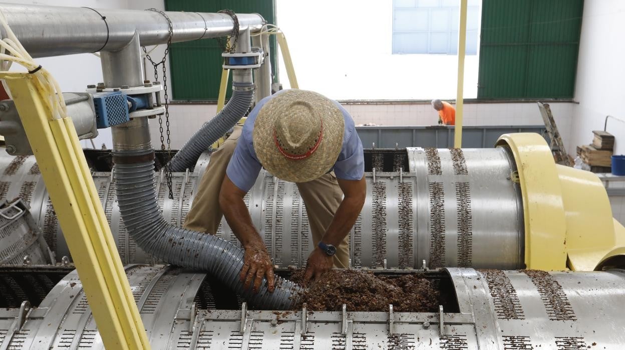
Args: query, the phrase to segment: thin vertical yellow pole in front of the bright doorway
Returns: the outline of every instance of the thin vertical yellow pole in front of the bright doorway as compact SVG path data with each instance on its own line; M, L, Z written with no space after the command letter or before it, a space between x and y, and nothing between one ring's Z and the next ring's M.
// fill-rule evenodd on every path
M467 39L467 0L460 0L460 23L458 24L458 85L456 88L456 126L454 148L462 148L462 114L464 113L464 51Z

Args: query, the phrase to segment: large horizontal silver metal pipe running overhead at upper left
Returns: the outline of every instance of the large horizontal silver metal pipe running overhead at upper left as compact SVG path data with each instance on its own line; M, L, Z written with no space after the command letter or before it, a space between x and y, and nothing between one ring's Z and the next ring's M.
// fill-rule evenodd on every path
M139 33L144 46L164 44L168 20L156 11L91 9L61 6L0 4L12 31L32 57L118 51ZM164 12L171 20L172 43L217 38L231 34L228 14ZM265 20L259 14L237 14L240 29L259 31ZM0 35L6 38L1 29Z

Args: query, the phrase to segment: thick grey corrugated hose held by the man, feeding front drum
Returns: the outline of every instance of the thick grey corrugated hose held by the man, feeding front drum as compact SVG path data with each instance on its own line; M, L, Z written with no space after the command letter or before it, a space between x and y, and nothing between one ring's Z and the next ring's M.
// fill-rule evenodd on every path
M239 280L243 249L166 222L156 201L154 150L116 151L113 160L119 211L128 234L141 249L169 264L209 272L252 305L286 310L296 301L300 287L280 277L273 293L267 291L266 280L257 294L244 289Z

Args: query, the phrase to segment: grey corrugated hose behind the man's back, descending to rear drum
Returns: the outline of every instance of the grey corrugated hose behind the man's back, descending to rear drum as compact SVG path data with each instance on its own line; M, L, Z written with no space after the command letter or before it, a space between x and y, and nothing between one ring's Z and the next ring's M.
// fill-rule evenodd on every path
M224 136L237 121L245 115L254 99L253 84L232 83L232 97L216 116L207 121L184 143L178 153L169 161L172 172L184 172L191 169L197 158L221 136Z

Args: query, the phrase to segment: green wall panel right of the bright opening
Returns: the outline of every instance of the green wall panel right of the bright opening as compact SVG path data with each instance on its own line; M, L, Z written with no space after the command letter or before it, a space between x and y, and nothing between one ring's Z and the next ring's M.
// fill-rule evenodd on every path
M477 98L572 98L583 0L483 0Z

